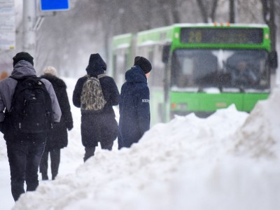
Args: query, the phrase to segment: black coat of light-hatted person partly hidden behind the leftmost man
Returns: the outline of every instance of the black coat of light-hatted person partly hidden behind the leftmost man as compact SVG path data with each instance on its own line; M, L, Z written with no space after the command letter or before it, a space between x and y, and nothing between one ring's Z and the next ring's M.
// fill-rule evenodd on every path
M59 123L55 124L54 128L50 131L47 137L47 144L45 145L45 151L52 151L52 149L64 148L68 144L67 128L71 130L73 128L73 118L71 114L69 99L66 92L66 84L57 76L45 74L41 76L52 83L57 100L62 111L62 117Z

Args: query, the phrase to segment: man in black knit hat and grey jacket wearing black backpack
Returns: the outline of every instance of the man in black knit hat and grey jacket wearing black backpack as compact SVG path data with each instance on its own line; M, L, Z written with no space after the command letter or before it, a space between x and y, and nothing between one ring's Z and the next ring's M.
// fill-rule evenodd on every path
M10 185L15 201L36 190L38 166L46 133L58 123L61 110L51 83L36 77L33 57L18 52L11 76L0 82L0 129L6 140Z

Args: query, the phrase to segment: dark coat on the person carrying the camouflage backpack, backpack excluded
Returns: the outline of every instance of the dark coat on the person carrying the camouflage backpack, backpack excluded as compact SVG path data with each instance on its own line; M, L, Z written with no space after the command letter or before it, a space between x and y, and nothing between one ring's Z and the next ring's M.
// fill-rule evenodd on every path
M104 71L99 73L104 73ZM78 108L80 108L80 94L85 80L87 80L87 76L79 78L73 91L73 104ZM119 103L118 87L113 78L109 76L104 76L99 80L106 104L100 113L82 114L81 134L85 147L98 146L99 141L111 144L118 136L118 123L112 107Z

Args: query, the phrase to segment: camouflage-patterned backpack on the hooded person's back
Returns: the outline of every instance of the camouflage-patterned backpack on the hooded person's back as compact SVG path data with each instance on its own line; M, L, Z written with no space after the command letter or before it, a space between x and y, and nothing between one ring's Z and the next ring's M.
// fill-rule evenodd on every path
M98 113L102 111L106 104L99 78L104 77L100 74L97 78L87 76L80 94L80 110L82 113Z

